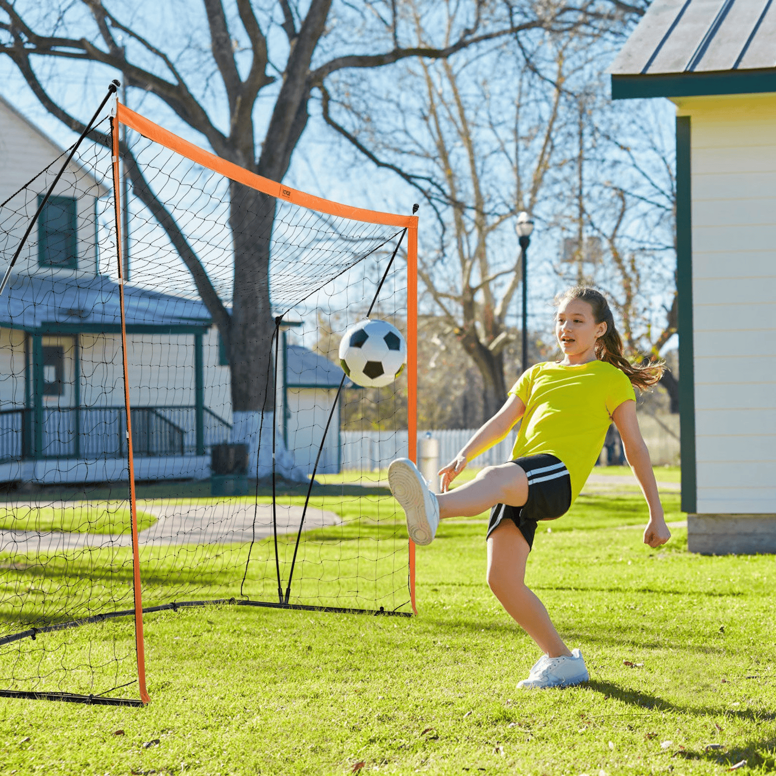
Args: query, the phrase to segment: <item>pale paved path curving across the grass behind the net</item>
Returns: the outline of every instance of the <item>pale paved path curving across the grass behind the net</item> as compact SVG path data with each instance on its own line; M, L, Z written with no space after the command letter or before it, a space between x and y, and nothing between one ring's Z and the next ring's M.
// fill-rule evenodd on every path
M72 502L68 502L72 506ZM7 507L35 507L30 502L5 504ZM47 502L47 507L61 508L65 502ZM140 533L140 546L177 544L244 543L272 535L272 504L169 504L138 501L137 508L154 514L158 521ZM296 533L302 518L301 507L277 506L278 533ZM254 523L255 520L255 523ZM338 525L341 518L334 512L307 508L304 529ZM130 535L64 533L58 531L0 530L0 552L64 553L81 547L126 547Z

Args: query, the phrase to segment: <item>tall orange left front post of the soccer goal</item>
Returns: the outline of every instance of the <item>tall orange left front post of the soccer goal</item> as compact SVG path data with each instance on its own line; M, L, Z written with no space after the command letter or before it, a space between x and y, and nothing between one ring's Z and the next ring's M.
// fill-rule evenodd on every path
M116 100L118 105L118 100ZM116 259L119 269L119 305L121 310L121 354L124 369L124 407L126 410L126 458L130 477L130 522L132 527L132 574L135 599L135 646L137 648L137 682L140 700L148 703L145 683L145 646L143 640L143 601L140 594L140 549L137 539L137 504L135 501L135 463L132 449L132 417L130 414L130 369L126 361L126 317L124 314L124 275L121 255L121 197L119 171L119 126L115 116L110 117L110 135L113 145L113 201L116 203Z

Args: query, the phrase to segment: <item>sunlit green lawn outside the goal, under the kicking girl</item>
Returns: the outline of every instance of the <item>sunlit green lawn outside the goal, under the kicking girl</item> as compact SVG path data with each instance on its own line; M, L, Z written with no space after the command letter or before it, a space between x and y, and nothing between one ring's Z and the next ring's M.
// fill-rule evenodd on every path
M448 521L417 550L417 618L147 615L151 704L0 698L0 774L776 771L774 556L690 555L682 529L652 550L645 520L639 497L590 495L537 534L528 584L584 687L515 688L538 650L484 583L484 521ZM129 622L99 627L131 651Z

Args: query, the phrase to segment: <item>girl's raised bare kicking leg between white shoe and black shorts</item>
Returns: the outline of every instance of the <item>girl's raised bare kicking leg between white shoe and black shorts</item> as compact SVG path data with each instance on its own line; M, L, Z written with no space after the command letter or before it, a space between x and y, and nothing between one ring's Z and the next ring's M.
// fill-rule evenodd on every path
M521 507L528 501L528 477L516 463L487 466L470 482L437 498L440 518L473 518L495 504Z

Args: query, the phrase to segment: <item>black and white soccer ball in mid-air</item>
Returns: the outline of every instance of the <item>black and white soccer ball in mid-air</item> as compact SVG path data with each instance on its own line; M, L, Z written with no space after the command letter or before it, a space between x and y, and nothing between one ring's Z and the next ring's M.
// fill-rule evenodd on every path
M407 343L397 327L385 320L359 320L342 337L340 365L364 388L393 383L407 363Z

